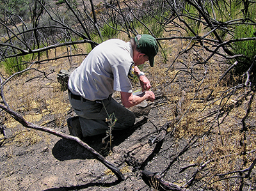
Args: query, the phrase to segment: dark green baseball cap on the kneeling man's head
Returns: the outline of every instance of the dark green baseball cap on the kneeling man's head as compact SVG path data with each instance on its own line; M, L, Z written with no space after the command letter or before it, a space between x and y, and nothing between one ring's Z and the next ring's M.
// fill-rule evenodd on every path
M149 57L149 64L151 67L153 67L154 56L156 56L158 52L156 38L150 34L138 34L135 36L135 43L137 48L141 50L141 53L144 53Z

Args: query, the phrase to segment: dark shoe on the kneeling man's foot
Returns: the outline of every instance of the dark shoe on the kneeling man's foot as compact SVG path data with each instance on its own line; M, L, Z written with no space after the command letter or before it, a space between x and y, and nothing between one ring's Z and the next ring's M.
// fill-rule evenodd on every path
M73 135L75 137L79 137L80 139L83 138L83 133L81 129L81 125L79 122L79 117L73 117L67 119L67 125L70 135Z

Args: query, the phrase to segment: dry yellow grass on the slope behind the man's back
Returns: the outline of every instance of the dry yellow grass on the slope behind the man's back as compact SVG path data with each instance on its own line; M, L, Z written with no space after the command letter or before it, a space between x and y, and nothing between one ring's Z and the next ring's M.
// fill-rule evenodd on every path
M60 50L61 51L61 50ZM53 56L53 55L52 55ZM73 59L79 62L80 59ZM73 63L77 65L77 63ZM71 106L67 100L67 94L60 89L56 77L61 69L68 70L70 63L67 60L51 61L42 65L34 66L37 70L45 72L47 78L40 72L30 70L10 80L4 86L6 102L14 110L22 114L24 119L38 125L47 125L51 121L44 116L52 116L54 124L63 126L66 123L67 112ZM7 78L3 68L1 73ZM42 135L36 131L21 128L20 124L11 116L5 114L6 128L16 128L13 144L35 144L42 140Z

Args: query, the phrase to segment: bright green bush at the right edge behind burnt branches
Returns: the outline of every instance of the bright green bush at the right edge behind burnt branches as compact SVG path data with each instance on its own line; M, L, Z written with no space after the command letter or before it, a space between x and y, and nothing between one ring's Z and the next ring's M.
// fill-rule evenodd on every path
M234 28L234 39L239 38L252 38L255 37L255 28L252 25L239 25ZM237 73L244 73L253 62L253 57L256 55L256 40L246 40L235 42L233 45L234 54L243 54L246 57L241 57L237 59L239 62L236 66ZM255 70L256 66L254 65L253 70Z

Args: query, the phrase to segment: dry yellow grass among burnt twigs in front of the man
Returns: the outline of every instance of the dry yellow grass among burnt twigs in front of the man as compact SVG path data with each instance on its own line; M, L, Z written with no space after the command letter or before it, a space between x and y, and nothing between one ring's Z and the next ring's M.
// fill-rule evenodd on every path
M175 45L177 46L176 48L170 47L170 49L176 49L175 52L178 52L181 43L180 45L177 45L177 43ZM164 47L168 47L168 45L164 45ZM255 123L255 107L253 105L256 105L256 100L253 98L251 105L248 105L252 97L250 89L237 89L234 93L228 91L232 86L239 83L237 76L227 77L215 86L228 66L226 65L223 68L223 65L220 65L214 59L207 66L207 75L202 84L202 81L196 81L188 73L180 72L176 76L180 71L179 68L186 68L182 63L186 63L188 68L195 63L195 58L191 57L191 55L193 54L189 54L186 59L178 59L172 70L170 68L168 70L170 65L163 65L163 60L158 58L158 63L150 70L154 87L161 89L161 93L168 98L168 102L159 105L164 108L163 111L159 111L159 116L161 116L161 119L165 119L159 119L159 124L163 125L164 121L175 118L173 103L179 101L181 91L185 90L186 102L182 105L182 114L186 114L175 128L175 137L177 140L182 138L189 140L193 135L201 137L197 142L201 148L200 155L191 160L191 162L200 166L200 164L210 161L209 165L207 165L208 170L199 172L196 179L202 179L205 183L208 183L207 187L216 190L236 190L239 187L239 181L234 178L218 181L221 176L216 176L216 174L246 169L252 164L255 158L253 153L256 150L255 124L253 124ZM173 59L169 55L168 63L172 63ZM195 69L202 76L204 68L199 66ZM166 72L167 70L168 72ZM174 79L175 77L176 79ZM165 84L172 80L172 84L164 87ZM207 97L211 89L214 89L212 93L213 100L209 102L200 100L200 98ZM230 93L230 96L225 97L228 93ZM249 93L249 95L244 96L246 93ZM249 106L250 112L248 113ZM218 109L220 109L220 113L217 116ZM211 114L211 112L214 113ZM208 117L207 114L209 114ZM203 120L200 120L202 118ZM243 128L241 121L244 118L246 118L245 126L252 126L252 128L246 132L241 132L241 128ZM205 176L205 173L208 173L207 176ZM232 176L236 176L236 174L227 175L225 178ZM255 176L252 179L255 180Z

